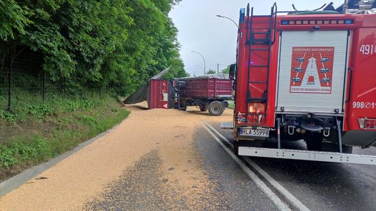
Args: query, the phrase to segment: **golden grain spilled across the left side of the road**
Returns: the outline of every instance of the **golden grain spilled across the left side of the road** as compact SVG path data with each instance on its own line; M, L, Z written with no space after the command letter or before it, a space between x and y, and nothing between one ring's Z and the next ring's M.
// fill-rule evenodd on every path
M151 188L148 183L127 183L138 183L134 178L144 176L145 171L134 169L142 167L143 163L146 171L155 172L149 176L150 180L155 180L150 183L154 186L152 189L165 190L166 194L160 197L166 208L215 209L216 203L225 203L213 195L217 184L201 167L201 155L195 149L192 136L195 128L201 127L203 119L230 121L232 110L221 117L210 117L196 109L192 112L142 110L139 105L127 106L127 109L132 112L130 117L116 129L36 177L46 179L33 178L3 196L1 210L101 210L101 205L110 203L111 187L123 183L129 187L122 189L127 196L132 196L133 192L148 196L148 191L142 190ZM150 163L145 162L150 159L155 160L155 164L148 166ZM148 176L143 179L148 180ZM159 197L159 194L155 196ZM174 201L181 201L181 206L179 203L173 205ZM143 209L142 206L139 208Z

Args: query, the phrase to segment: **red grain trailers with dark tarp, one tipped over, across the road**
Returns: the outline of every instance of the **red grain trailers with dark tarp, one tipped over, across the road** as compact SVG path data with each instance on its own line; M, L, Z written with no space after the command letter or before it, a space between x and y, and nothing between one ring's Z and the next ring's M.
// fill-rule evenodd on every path
M209 74L173 80L161 79L169 69L165 69L150 78L146 85L139 88L123 103L135 104L148 102L148 109L175 108L187 110L187 106L197 106L210 115L221 115L228 100L233 99L233 81L228 74Z

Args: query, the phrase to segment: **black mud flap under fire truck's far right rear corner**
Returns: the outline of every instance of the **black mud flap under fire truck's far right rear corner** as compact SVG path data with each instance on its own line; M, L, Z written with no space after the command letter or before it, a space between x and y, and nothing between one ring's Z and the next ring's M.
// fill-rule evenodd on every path
M342 137L342 143L347 146L376 146L376 131L351 130Z

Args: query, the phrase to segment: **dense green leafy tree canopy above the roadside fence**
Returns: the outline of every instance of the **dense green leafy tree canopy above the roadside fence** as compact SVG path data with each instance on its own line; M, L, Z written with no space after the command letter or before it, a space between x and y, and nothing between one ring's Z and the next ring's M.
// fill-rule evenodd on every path
M167 77L187 76L178 30L168 17L178 2L0 1L1 53L29 47L44 56L43 69L52 81L74 92L112 87L126 96L169 66Z

